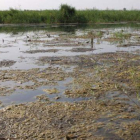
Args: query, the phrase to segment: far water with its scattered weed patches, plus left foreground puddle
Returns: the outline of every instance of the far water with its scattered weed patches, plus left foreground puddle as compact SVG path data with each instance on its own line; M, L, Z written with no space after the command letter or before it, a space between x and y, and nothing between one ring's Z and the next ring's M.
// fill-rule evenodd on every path
M140 48L140 27L138 25L102 25L97 28L94 25L84 28L80 26L73 26L72 28L66 28L65 26L44 28L26 27L22 30L20 30L19 27L11 27L9 30L7 30L7 28L9 27L0 29L1 71L26 71L35 68L44 69L52 67L63 69L64 74L71 74L73 69L77 67L77 62L75 62L74 65L70 64L65 67L62 66L62 64L55 63L56 61L53 59L49 62L47 61L47 63L40 63L39 58L50 57L63 59L63 57L90 56L102 53L135 53ZM95 36L90 36L90 32L95 34ZM125 38L122 34L129 34L130 37ZM130 43L132 45L129 47L119 46ZM6 73L8 73L8 71ZM20 89L18 86L29 86L30 83L33 82L31 80L23 82L22 84L19 84L20 81L16 81L15 79L13 81L1 80L0 85L2 87L13 88L14 91L9 95L0 96L0 101L2 101L4 106L12 103L20 104L35 101L36 96L46 95L43 89L52 88L59 90L59 94L47 94L47 97L51 101L74 102L89 99L88 97L70 98L64 95L65 90L67 90L66 84L73 81L73 77L67 76L67 79L55 81L57 82L55 86L40 85L35 89L28 90L24 88ZM33 84L35 84L35 82L33 82Z

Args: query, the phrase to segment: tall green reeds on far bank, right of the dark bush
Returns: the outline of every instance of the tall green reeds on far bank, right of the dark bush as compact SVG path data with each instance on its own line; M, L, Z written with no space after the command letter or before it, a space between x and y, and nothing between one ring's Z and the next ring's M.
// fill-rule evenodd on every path
M89 23L140 21L140 11L136 10L83 10L78 13L84 15Z

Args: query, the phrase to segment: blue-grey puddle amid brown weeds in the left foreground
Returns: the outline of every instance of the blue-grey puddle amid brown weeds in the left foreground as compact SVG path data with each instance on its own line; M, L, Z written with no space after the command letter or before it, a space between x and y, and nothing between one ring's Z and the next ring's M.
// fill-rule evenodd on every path
M16 90L13 94L9 96L2 96L0 97L0 100L2 101L3 106L8 106L10 104L21 104L26 102L33 102L36 101L37 96L45 95L49 101L55 101L55 102L77 102L77 101L83 101L83 100L89 100L90 98L85 97L79 97L79 98L68 98L64 95L64 91L67 89L67 84L71 82L72 78L68 78L64 81L59 81L55 86L42 86L37 88L36 90ZM17 83L14 84L12 81L7 81L2 83L4 86L17 86ZM32 85L32 82L26 82L24 85ZM20 85L20 83L19 83ZM49 94L44 91L44 89L52 89L56 88L59 93ZM58 97L58 99L57 99Z

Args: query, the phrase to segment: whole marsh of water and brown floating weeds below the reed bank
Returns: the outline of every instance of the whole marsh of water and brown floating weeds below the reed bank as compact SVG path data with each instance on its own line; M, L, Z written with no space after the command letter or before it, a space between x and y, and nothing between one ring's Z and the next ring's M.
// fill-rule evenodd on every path
M2 26L0 38L0 139L140 139L139 24Z

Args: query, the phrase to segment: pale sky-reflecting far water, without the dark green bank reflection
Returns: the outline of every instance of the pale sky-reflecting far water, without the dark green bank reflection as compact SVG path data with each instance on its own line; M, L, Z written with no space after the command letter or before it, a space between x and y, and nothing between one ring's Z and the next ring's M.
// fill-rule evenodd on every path
M78 28L78 27L77 27ZM61 29L61 28L60 28ZM62 28L63 29L63 28ZM109 52L120 52L120 51L136 51L139 49L139 46L131 46L131 47L117 47L116 42L109 43L107 41L97 41L97 39L94 39L94 50L92 51L86 51L86 52L72 52L71 49L73 48L91 48L90 43L85 43L86 41L90 42L90 38L88 39L71 39L73 42L73 45L66 45L63 42L56 41L55 39L59 37L59 35L63 35L66 38L69 38L69 35L71 33L73 35L83 35L86 34L89 31L109 31L110 34L115 31L124 30L127 33L139 33L138 28L130 28L130 27L121 27L121 28L100 28L100 29L75 29L75 32L64 32L62 31L48 31L47 29L44 30L38 30L38 31L25 31L25 32L17 32L16 34L13 34L12 32L9 33L0 33L0 52L1 57L0 61L2 60L14 60L16 63L9 67L11 69L31 69L31 68L42 68L42 66L38 66L35 61L39 57L42 56L76 56L76 55L89 55L89 54L99 54L99 53L109 53ZM51 37L48 38L47 34L50 34ZM28 42L28 38L32 40L38 40L42 42ZM102 37L106 38L106 34ZM4 42L3 42L4 39ZM52 46L49 46L49 42L44 41L50 41L54 40L54 43L52 43ZM84 45L76 46L77 42L84 42ZM58 43L56 43L58 42ZM59 44L59 46L57 46ZM67 43L68 44L68 43ZM63 47L61 47L61 45ZM35 54L28 54L24 53L26 51L31 50L49 50L49 49L58 49L58 52L44 52L44 53L35 53ZM2 67L1 69L9 69Z

